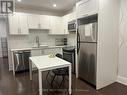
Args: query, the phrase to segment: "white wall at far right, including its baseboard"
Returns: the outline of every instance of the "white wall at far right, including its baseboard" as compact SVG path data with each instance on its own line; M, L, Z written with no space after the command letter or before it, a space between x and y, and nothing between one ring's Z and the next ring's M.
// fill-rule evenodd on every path
M127 0L120 0L118 81L127 85Z

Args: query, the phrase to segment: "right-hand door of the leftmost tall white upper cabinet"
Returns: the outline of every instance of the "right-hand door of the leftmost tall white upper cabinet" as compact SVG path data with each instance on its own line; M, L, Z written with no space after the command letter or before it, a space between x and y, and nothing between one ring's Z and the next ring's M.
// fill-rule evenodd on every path
M27 21L27 15L20 13L19 14L19 25L20 25L20 34L22 35L27 35L29 34L29 29L28 29L28 21Z

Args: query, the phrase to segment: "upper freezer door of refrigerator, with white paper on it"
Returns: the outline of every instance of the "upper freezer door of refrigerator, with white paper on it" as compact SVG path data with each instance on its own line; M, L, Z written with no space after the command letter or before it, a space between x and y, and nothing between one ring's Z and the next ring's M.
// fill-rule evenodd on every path
M80 42L97 42L97 22L80 25L78 33Z

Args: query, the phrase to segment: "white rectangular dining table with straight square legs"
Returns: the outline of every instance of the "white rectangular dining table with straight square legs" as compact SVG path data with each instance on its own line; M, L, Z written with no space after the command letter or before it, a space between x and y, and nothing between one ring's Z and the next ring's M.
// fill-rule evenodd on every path
M72 93L71 90L71 63L65 61L58 57L50 58L49 55L29 57L29 70L30 70L30 80L32 80L32 64L34 64L38 69L38 79L39 79L39 95L43 94L42 90L42 72L47 70L53 70L58 68L69 68L69 94Z

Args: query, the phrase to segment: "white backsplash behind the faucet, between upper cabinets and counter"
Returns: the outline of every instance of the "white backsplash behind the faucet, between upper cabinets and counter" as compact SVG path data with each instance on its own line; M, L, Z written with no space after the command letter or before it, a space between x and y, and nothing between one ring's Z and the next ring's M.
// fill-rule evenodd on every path
M36 36L39 36L40 44L55 45L55 38L61 38L60 35L49 35L48 30L29 30L29 35L10 35L9 48L32 47L36 43Z

